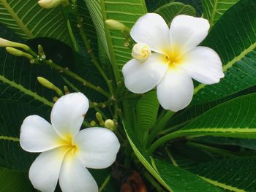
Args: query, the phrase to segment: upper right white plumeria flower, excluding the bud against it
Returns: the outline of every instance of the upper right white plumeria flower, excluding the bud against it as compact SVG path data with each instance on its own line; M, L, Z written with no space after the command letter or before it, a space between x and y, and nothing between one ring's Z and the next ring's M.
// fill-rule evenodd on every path
M155 13L139 18L131 37L154 53L144 62L134 57L124 65L122 72L129 91L145 93L157 85L159 103L165 110L176 112L192 100L192 78L204 84L219 82L224 77L219 55L211 48L197 47L209 27L208 20L188 15L176 16L170 28Z

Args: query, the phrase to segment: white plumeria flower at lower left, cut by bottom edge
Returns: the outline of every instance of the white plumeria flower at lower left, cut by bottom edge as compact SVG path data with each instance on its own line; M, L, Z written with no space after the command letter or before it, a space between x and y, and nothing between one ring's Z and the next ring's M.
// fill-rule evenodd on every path
M88 109L89 101L83 93L70 93L53 105L51 125L37 115L23 121L21 147L29 152L42 152L29 169L34 188L53 192L59 178L64 192L98 191L86 167L102 169L113 164L120 144L107 128L79 131Z

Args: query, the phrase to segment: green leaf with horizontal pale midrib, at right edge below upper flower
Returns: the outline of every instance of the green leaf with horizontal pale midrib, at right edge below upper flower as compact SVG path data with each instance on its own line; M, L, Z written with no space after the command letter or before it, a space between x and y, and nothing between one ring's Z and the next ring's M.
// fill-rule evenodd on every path
M255 139L255 109L255 93L241 96L213 107L176 132Z

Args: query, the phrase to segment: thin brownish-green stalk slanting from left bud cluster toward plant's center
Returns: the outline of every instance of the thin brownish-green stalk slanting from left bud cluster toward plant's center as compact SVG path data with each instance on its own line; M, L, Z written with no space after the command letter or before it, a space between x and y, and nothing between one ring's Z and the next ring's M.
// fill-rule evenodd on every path
M69 77L74 78L75 80L78 80L79 82L82 82L83 85L86 85L87 87L93 89L94 91L97 91L99 93L102 93L102 95L110 98L111 95L110 93L106 92L104 89L95 86L94 84L92 84L91 82L88 82L86 80L84 80L82 77L80 77L78 74L75 74L74 72L71 72L69 69L64 68L62 66L59 66L57 64L55 64L53 61L51 60L43 60L46 64L48 64L48 66L52 67L53 69L56 69L59 72L63 72L64 74L67 74Z

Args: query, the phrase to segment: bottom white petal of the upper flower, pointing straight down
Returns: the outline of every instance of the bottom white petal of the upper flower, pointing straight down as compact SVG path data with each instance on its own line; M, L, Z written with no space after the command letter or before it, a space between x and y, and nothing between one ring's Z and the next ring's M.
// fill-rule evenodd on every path
M182 69L168 69L157 85L157 99L165 110L177 112L190 103L193 89L192 78Z

